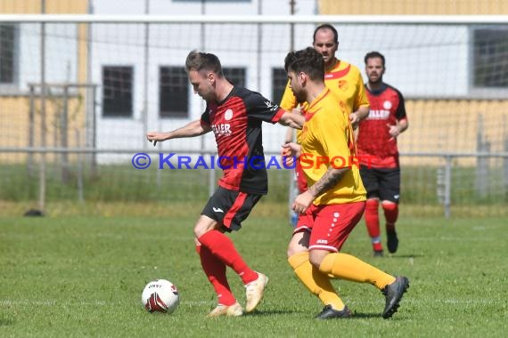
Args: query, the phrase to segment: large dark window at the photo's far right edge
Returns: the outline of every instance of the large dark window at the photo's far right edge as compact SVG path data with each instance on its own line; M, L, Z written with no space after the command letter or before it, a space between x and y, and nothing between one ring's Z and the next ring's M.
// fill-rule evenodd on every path
M508 88L508 27L473 32L474 86Z

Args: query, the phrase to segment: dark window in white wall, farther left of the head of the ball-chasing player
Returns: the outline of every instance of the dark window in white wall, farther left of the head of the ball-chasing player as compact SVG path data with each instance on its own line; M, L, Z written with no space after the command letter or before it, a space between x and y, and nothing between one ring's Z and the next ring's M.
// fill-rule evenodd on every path
M102 116L132 117L133 68L102 68Z

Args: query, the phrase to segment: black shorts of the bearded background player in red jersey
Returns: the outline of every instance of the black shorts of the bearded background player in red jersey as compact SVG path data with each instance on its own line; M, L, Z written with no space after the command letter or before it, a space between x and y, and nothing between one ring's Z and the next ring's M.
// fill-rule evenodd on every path
M367 198L379 198L398 204L400 197L400 168L368 168L360 166L360 175Z

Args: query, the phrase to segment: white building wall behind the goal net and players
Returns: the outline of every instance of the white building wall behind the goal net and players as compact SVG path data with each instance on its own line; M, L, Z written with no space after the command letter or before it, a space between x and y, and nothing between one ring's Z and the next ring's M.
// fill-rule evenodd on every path
M315 1L299 1L296 15L315 13ZM288 0L265 0L264 15L289 14ZM138 0L93 2L96 14L144 14L145 2ZM258 1L206 2L151 1L150 13L158 15L256 15ZM338 56L348 60L362 71L365 52L378 50L387 58L386 82L399 88L406 97L467 96L469 91L468 28L465 26L380 26L334 24L339 30ZM168 131L199 118L203 110L201 98L190 90L189 119L161 119L159 117L159 68L184 66L188 52L198 49L216 53L225 67L246 68L246 86L271 98L272 68L282 68L283 59L290 50L290 25L263 25L258 36L258 25L221 27L151 25L148 64L148 130ZM312 44L315 25L295 25L294 48ZM92 51L92 82L102 83L102 66L133 66L134 116L132 118L102 117L98 114L99 148L143 149L150 147L144 139L144 25L94 25ZM262 53L258 53L258 41ZM102 102L99 89L97 100ZM183 98L185 100L185 98ZM266 151L278 152L285 129L264 125ZM204 138L174 140L160 149L215 149L213 135ZM108 157L111 159L111 157Z

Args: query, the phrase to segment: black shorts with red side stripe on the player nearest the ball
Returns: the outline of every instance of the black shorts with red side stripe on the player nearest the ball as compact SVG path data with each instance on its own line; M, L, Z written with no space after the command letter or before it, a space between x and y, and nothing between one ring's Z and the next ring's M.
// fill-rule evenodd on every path
M239 230L242 228L242 221L249 216L261 197L262 195L218 187L201 214L216 220L228 232Z

